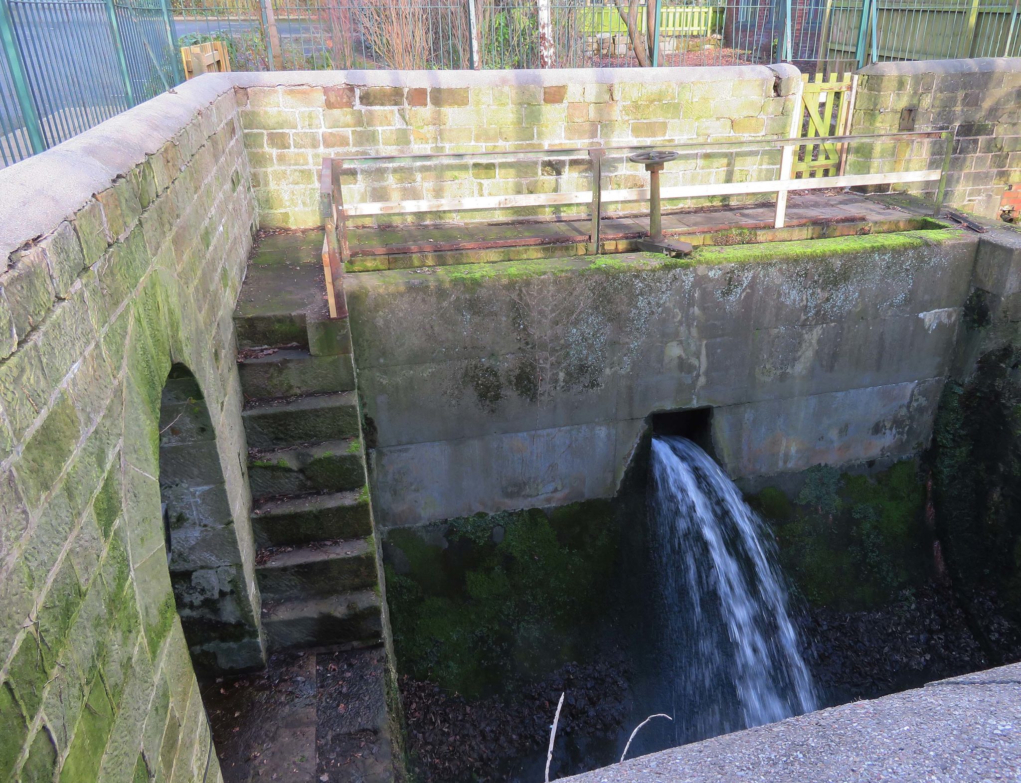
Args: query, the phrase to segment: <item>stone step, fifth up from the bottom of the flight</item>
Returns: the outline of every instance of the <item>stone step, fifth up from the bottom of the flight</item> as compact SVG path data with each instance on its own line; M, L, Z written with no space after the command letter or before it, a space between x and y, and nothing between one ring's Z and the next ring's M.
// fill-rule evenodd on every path
M248 447L255 449L282 449L358 435L358 409L351 391L293 400L255 400L245 405L242 419Z

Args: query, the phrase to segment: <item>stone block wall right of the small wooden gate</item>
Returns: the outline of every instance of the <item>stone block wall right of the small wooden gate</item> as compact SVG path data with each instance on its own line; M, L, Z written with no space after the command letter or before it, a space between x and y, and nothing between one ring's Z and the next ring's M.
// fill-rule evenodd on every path
M914 130L957 134L946 203L999 216L1010 185L1021 184L1021 58L883 62L861 71L852 132L894 133L902 114ZM939 140L853 145L848 173L939 168ZM937 183L893 186L933 196Z

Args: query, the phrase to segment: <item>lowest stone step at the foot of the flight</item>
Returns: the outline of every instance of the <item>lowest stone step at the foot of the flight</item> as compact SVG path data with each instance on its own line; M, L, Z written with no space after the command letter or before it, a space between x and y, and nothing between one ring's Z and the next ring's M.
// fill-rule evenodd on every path
M327 598L262 605L262 627L270 650L337 645L342 649L380 643L383 619L375 590L357 590Z

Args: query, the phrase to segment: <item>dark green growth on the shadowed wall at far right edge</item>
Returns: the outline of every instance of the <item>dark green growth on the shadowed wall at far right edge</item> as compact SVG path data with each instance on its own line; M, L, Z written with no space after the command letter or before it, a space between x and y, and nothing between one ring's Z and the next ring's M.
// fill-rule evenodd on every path
M1021 349L984 354L949 383L931 460L936 523L955 576L1005 591L1021 615Z

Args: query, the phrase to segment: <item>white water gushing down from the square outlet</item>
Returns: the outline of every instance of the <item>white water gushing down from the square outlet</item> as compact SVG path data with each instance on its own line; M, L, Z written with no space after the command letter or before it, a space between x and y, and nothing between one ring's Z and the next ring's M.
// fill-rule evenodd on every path
M817 708L772 536L685 438L652 439L651 528L675 741Z

